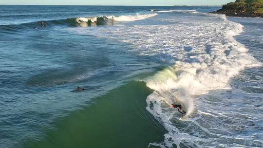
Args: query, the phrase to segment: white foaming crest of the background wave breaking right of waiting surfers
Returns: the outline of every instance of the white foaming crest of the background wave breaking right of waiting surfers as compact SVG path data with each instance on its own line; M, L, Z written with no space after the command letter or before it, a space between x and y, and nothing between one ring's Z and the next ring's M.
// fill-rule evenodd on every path
M109 19L109 20L115 20L115 21L135 21L135 20L141 20L141 19L148 19L150 17L157 16L157 13L153 14L137 14L137 15L127 15L127 16L100 16L100 17L90 17L90 18L77 18L76 21L78 23L80 22L96 22L98 18L103 18L103 19Z

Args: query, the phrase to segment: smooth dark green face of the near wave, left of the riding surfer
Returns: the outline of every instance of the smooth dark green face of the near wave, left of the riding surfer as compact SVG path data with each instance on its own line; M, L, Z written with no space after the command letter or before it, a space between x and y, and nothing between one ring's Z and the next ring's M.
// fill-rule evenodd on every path
M150 93L145 82L132 81L94 98L98 105L72 113L25 148L147 148L162 142L167 131L146 110Z

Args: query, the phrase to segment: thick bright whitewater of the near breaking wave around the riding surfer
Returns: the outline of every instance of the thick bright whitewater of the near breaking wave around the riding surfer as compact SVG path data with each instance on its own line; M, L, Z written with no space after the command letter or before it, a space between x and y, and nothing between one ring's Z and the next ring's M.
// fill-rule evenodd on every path
M248 49L244 45L233 38L243 32L243 26L228 21L224 15L219 17L230 25L226 27L223 35L228 40L227 43L209 43L211 48L207 51L207 57L203 58L204 55L201 54L199 62L176 61L174 66L147 80L147 86L155 91L147 98L147 110L169 131L164 135L163 143L150 145L173 148L175 144L180 148L183 139L195 139L172 126L170 120L175 111L169 109L170 104L182 104L189 115L194 111L196 96L211 90L229 89L228 80L232 76L245 67L262 66L262 63L247 54ZM225 54L225 51L229 53Z

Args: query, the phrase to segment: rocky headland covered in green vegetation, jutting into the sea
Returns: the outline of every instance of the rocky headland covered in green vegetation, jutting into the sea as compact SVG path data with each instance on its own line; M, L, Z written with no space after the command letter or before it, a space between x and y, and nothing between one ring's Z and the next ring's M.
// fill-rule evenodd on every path
M234 17L263 17L263 0L236 0L212 13Z

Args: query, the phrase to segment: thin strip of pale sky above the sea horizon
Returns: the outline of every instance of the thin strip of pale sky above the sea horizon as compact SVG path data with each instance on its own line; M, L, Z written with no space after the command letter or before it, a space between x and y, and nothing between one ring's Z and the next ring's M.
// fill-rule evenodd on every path
M24 5L221 5L235 0L0 0L0 4Z

